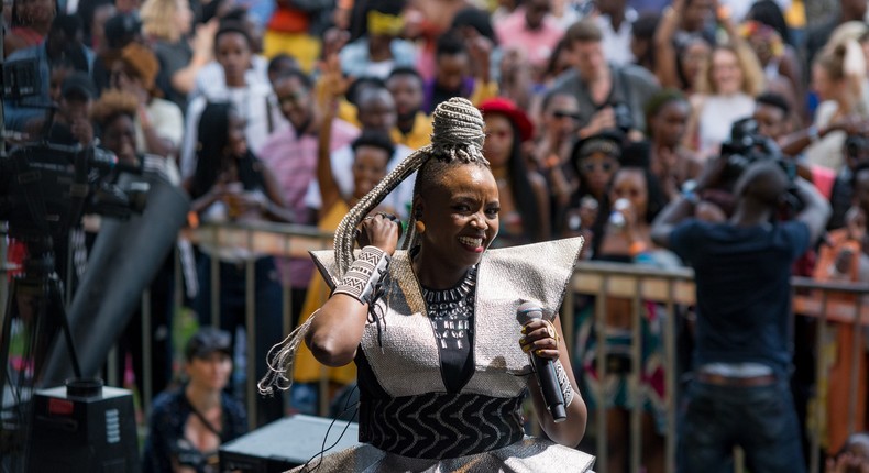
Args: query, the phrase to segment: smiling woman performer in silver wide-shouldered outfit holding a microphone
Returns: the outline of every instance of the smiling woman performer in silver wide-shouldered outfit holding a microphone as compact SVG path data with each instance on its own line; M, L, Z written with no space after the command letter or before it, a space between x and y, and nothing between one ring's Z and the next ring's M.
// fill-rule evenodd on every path
M490 250L499 201L482 154L482 117L468 100L452 98L436 110L433 128L432 144L344 217L334 253L315 254L334 290L275 348L261 391L289 387L287 371L301 340L326 365L355 361L364 444L315 461L318 471L586 471L592 458L573 448L587 413L560 343L559 317L524 327L516 321L528 300L557 314L582 240ZM400 224L370 212L414 172L408 234L398 250ZM554 362L563 422L547 411L531 351ZM525 437L527 392L552 441Z

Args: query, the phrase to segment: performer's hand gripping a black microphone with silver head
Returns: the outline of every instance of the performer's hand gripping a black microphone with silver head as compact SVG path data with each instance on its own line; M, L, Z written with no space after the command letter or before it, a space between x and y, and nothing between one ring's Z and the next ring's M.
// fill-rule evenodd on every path
M568 418L566 404L554 361L558 360L558 331L552 322L543 319L543 310L534 302L524 302L516 309L516 320L522 326L519 339L522 351L531 358L537 383L543 402L556 422ZM559 364L560 366L560 364ZM563 369L562 369L563 371Z

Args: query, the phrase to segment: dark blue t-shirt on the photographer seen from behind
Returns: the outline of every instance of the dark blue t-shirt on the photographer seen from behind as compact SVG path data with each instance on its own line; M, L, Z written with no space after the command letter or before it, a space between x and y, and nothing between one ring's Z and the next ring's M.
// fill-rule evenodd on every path
M694 268L694 361L762 363L780 374L791 363L791 266L810 244L799 221L757 227L689 219L670 248Z

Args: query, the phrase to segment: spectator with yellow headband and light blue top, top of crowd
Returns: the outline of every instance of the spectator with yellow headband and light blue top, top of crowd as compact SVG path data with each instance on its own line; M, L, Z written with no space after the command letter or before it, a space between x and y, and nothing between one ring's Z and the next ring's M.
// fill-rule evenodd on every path
M367 33L340 53L341 70L351 77L385 79L396 67L413 67L416 48L400 38L404 29L400 0L371 0L365 9Z

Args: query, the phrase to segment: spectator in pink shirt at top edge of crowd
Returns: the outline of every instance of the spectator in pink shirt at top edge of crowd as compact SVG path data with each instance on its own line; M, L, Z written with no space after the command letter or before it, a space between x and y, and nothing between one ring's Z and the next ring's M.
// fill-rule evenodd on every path
M536 82L542 78L549 56L564 35L550 16L551 0L526 0L507 18L495 23L498 44L505 51L517 50L530 65Z

